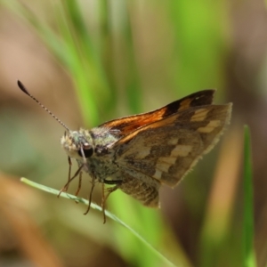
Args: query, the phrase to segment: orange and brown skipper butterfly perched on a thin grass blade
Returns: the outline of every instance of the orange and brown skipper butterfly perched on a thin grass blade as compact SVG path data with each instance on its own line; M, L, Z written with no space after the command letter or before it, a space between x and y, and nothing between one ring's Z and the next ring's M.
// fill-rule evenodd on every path
M91 130L71 131L43 104L28 93L20 81L20 89L49 112L66 129L61 146L69 158L69 182L89 174L92 188L102 184L102 210L109 194L122 190L143 206L159 206L159 188L174 187L190 172L200 158L210 151L231 120L232 104L214 105L215 90L192 93L181 100L147 113L121 117ZM71 158L77 160L77 172L71 176ZM105 184L110 185L105 189Z

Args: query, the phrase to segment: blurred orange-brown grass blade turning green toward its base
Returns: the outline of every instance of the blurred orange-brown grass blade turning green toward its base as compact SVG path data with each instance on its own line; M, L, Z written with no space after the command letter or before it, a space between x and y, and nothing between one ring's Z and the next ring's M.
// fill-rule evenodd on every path
M241 241L237 239L238 244L235 244L229 237L232 236L233 231L231 223L243 160L242 135L242 130L234 128L223 138L209 197L206 201L205 217L198 245L199 266L207 267L215 264L225 266L232 261L239 263L241 261L241 252L237 253ZM232 150L233 147L235 150ZM234 255L231 255L232 251L235 251ZM227 259L225 255L228 255Z

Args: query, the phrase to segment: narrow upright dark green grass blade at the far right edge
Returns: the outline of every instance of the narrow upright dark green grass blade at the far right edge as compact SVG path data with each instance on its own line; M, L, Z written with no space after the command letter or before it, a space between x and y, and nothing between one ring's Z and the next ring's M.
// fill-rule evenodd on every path
M253 175L249 128L244 128L243 266L256 266L254 250Z

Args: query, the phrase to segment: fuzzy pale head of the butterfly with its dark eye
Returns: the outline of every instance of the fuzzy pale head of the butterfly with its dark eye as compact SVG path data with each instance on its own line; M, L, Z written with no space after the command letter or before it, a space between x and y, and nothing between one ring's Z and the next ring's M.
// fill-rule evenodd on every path
M93 141L88 131L67 131L61 137L61 146L70 158L90 158L93 155Z

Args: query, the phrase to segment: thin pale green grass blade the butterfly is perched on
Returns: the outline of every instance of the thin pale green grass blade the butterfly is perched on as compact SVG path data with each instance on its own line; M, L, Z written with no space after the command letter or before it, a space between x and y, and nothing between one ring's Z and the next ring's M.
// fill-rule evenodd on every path
M43 190L45 192L51 193L51 194L56 195L56 196L59 195L59 193L60 193L59 190L55 190L53 188L44 186L44 185L39 184L37 182L29 181L26 178L21 178L20 181L24 182L24 183L26 183L26 184L28 184L28 185L30 185L32 187L35 187L36 189ZM75 200L77 202L84 203L85 205L89 204L88 200L85 200L85 198L78 198L76 196L73 196L73 195L65 193L65 192L61 193L61 197L73 199L73 200ZM95 204L93 202L91 203L91 207L93 209L95 209L95 210L98 210L98 211L102 212L101 206L98 206L97 204ZM129 225L127 225L126 223L124 223L123 221L118 219L116 215L111 214L107 210L105 210L105 214L106 214L107 217L109 217L113 221L119 223L120 225L124 226L128 231L132 232L137 239L140 239L142 241L142 243L144 245L146 245L150 249L151 252L153 252L155 255L157 255L158 258L160 258L164 263L166 263L166 266L175 266L174 263L171 263L164 255L159 253L158 250L155 247L153 247L146 239L144 239L137 231L134 231L133 228L131 228Z

